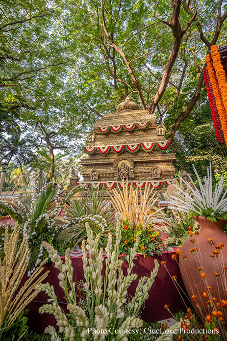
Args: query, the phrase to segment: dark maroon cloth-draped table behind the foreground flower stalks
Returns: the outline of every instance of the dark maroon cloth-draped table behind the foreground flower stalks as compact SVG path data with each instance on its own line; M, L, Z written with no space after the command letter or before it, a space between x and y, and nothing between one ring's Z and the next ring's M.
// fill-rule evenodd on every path
M143 255L138 254L136 259L134 260L133 272L138 274L137 279L131 284L129 287L128 293L134 295L135 289L137 287L138 281L142 276L150 277L151 271L154 268L154 259L156 259L159 264L162 261L166 262L166 266L171 276L177 276L177 283L181 288L184 289L183 282L180 276L179 266L175 260L172 260L172 255L176 253L179 248L171 248L172 250L169 252L163 252L161 257L145 257ZM73 256L72 253L72 265L74 268L74 276L73 279L75 282L84 279L83 275L83 263L81 258L81 253L75 253ZM104 256L105 257L105 256ZM64 257L62 257L64 259ZM126 274L127 262L123 263L123 271ZM66 300L64 298L64 293L62 289L59 287L59 280L57 275L59 271L55 269L52 263L48 263L45 265L45 270L49 270L50 273L48 277L44 280L44 283L49 282L50 285L53 285L55 293L57 295L58 302L60 302L60 306L67 311ZM162 320L171 317L171 314L164 308L165 304L169 305L169 308L172 313L175 313L179 310L185 310L185 306L183 301L177 291L174 281L171 276L168 274L166 268L164 266L159 266L159 270L157 276L154 280L154 283L149 292L149 298L145 301L145 307L143 309L142 318L145 320L149 320L151 322L155 320ZM44 329L48 325L55 325L55 318L50 314L39 314L39 308L47 303L48 295L44 292L40 292L34 301L32 301L29 305L29 314L28 314L28 324L35 331L42 333Z

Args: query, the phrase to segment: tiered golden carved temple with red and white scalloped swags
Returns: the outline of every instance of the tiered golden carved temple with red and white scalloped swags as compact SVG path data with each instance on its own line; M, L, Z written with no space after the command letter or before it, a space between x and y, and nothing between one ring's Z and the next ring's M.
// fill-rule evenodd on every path
M165 127L156 124L155 114L141 110L129 97L94 125L84 146L87 158L81 159L83 182L79 185L111 189L122 180L134 186L165 190L175 174L175 154L166 153L169 141ZM72 177L68 190L76 184Z

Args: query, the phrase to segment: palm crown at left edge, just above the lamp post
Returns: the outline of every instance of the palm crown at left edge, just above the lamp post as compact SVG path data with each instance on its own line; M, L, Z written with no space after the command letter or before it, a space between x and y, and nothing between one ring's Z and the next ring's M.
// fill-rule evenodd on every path
M27 164L32 156L32 143L27 136L21 138L20 128L14 129L12 135L0 134L0 162L4 159L13 162L20 168Z

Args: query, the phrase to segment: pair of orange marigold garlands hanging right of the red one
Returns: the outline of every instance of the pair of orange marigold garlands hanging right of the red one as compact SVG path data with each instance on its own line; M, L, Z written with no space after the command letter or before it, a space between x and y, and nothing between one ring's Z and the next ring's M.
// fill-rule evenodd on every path
M216 46L213 45L211 47L211 54L212 54L212 48L213 47L216 47ZM218 52L218 50L217 50L217 52ZM218 52L218 56L220 59L219 52ZM227 90L225 90L225 91L222 90L220 93L221 87L219 87L220 86L219 80L221 80L222 85L223 85L223 73L222 73L222 70L220 68L220 65L218 65L219 63L217 60L218 59L217 53L215 52L214 49L213 49L212 59L213 59L213 63L215 63L215 66L217 68L216 75L215 75L213 65L212 65L212 61L211 61L211 57L209 54L207 54L205 57L205 63L207 65L207 70L208 70L210 82L212 85L212 89L213 89L213 93L214 93L214 97L215 97L215 101L216 101L216 105L217 105L217 109L218 109L219 118L220 118L221 125L222 125L222 131L223 131L225 142L227 145L227 115L226 115L226 112L227 112ZM220 63L221 63L221 59L220 59ZM221 64L221 67L223 69L222 64ZM216 71L216 69L215 69L215 71ZM225 78L224 69L223 69L223 72L224 72L224 78ZM216 76L217 76L217 78L216 78ZM222 89L223 89L223 86L222 86ZM223 97L221 96L221 94L223 95ZM224 101L226 101L226 105L224 104Z

